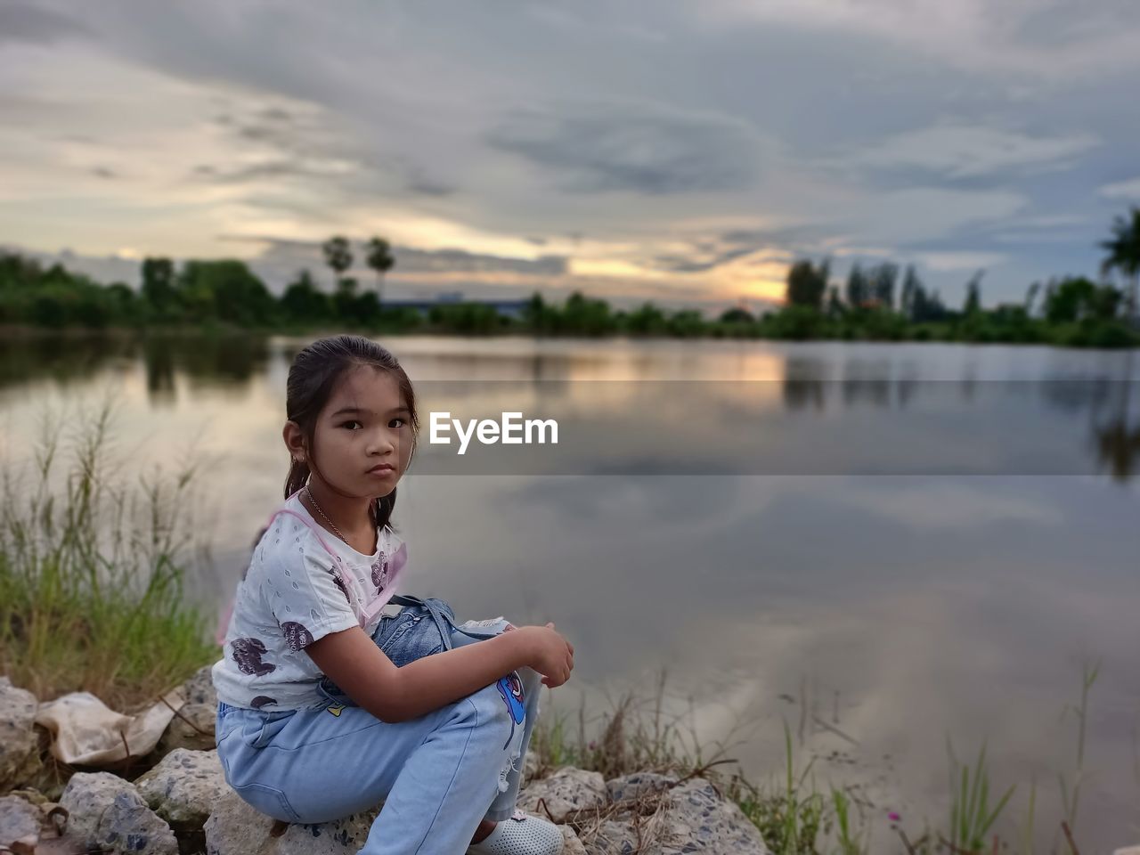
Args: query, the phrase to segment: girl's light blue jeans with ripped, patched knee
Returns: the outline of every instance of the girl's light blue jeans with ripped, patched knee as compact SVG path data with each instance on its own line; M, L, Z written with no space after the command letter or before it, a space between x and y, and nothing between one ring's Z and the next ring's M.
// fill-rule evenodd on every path
M382 621L374 641L390 629ZM479 641L455 629L450 638L453 646ZM461 855L480 820L514 812L540 681L521 668L394 724L341 703L279 712L219 703L218 756L229 785L277 820L328 822L383 800L363 855Z

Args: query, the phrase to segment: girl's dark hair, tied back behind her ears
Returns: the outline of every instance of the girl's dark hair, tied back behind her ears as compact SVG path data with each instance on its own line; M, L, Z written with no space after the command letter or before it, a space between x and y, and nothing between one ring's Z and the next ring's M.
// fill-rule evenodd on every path
M288 381L285 384L285 416L295 422L304 434L308 446L308 459L314 458L314 434L317 429L317 416L328 404L328 398L345 372L359 365L369 365L380 370L391 372L400 386L400 396L410 413L412 455L415 455L416 438L420 433L420 415L416 413L416 393L412 381L400 366L399 360L376 342L363 335L332 335L318 339L293 358L288 369ZM408 458L410 464L412 458ZM290 464L288 477L285 479L285 498L300 490L309 480L308 462L293 461ZM373 502L373 520L377 528L389 524L392 510L396 507L396 489L388 496Z

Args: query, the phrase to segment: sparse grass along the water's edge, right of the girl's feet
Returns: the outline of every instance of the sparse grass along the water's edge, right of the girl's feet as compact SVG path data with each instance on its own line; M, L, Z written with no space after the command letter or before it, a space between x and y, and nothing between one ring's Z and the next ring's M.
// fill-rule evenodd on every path
M1080 728L1077 732L1077 762L1075 782L1072 788L1061 777L1061 800L1065 815L1045 828L1064 830L1061 849L1078 855L1074 840L1073 824L1076 821L1080 783L1086 776L1084 769L1084 725L1088 716L1089 690L1099 674L1099 667L1086 667L1083 675L1081 703L1076 708ZM857 787L829 785L830 798L822 793L809 777L814 758L797 772L792 750L791 731L783 723L784 768L779 780L766 787L749 781L735 759L726 757L726 747L714 742L716 750L709 754L695 738L695 728L690 726L690 736L678 722L681 717L663 722L661 715L666 673L662 670L657 684L657 695L651 701L640 700L630 690L612 705L611 712L602 715L600 735L587 741L585 701L578 709L577 727L561 710L539 719L531 736L531 749L538 757L537 777L545 776L560 766L600 772L605 779L618 777L634 772L661 772L676 774L681 780L700 775L708 779L723 795L734 801L759 830L769 849L776 855L863 855L871 852L874 828L872 817L864 812L868 805L857 792ZM646 715L649 707L652 715ZM950 812L946 826L931 829L925 825L920 836L910 838L902 828L901 817L889 813L890 830L897 834L907 855L988 855L1010 849L1010 844L993 834L999 819L1009 809L1015 787L1010 785L994 798L991 792L990 771L986 760L986 744L983 742L974 764L960 763L953 744L946 738L948 756L947 803ZM1140 762L1140 758L1138 758ZM727 768L726 768L727 767ZM1140 769L1138 769L1140 773ZM654 813L660 796L643 797L634 805L611 805L601 812L587 812L588 816L571 820L584 840L605 819L619 819L625 811L636 823L638 817ZM1027 816L1020 823L1018 848L1024 855L1032 855L1034 837L1039 831L1036 816L1037 783L1029 782ZM857 808L857 815L853 812ZM878 814L879 812L873 812ZM880 817L881 819L881 817ZM876 850L887 850L879 840ZM638 849L640 852L641 849ZM652 849L651 849L652 850ZM1054 852L1057 849L1054 848Z

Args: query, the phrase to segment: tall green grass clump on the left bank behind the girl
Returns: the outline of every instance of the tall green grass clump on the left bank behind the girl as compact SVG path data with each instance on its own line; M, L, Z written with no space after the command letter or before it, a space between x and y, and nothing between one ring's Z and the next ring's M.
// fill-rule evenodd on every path
M217 648L184 591L194 467L128 481L112 431L109 404L66 443L46 416L32 472L3 467L0 673L41 700L83 690L128 710Z

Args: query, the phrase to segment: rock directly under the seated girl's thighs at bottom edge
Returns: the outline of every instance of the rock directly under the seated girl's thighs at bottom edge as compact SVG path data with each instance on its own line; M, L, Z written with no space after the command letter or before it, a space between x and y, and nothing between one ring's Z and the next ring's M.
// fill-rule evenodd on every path
M364 846L368 829L380 813L355 814L336 822L318 825L293 824L279 838L269 832L274 820L260 814L229 790L206 820L206 855L355 855Z

